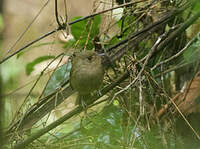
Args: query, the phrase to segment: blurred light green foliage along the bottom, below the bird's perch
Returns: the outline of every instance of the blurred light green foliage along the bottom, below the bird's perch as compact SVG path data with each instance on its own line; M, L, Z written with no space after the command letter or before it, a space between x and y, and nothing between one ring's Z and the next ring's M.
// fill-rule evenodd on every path
M120 106L106 106L99 113L92 112L87 114L80 123L75 123L74 129L81 127L70 135L65 136L69 128L69 124L63 125L62 129L57 134L59 141L51 137L49 147L56 147L62 144L61 148L83 148L83 149L96 149L96 148L109 148L109 149L122 149L132 147L134 149L140 148L163 148L163 139L159 127L151 128L150 131L145 129L145 124L136 125L131 123L123 125L123 115L126 111L122 110ZM167 146L170 149L175 149L175 141L172 134L165 137L168 140ZM46 139L48 136L46 136ZM131 139L132 138L132 139ZM45 139L43 139L45 140ZM51 144L53 142L53 144Z

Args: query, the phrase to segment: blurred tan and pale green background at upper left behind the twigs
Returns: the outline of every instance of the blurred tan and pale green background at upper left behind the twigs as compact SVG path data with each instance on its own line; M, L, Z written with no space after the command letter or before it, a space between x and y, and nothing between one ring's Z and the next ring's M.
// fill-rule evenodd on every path
M58 2L60 15L64 16L63 1ZM55 6L53 1L1 0L0 6L1 58L5 58L30 41L57 27L54 17ZM71 20L75 16L89 15L92 11L92 6L92 0L68 0L68 19ZM33 22L36 16L37 19ZM28 28L31 22L33 22L33 24ZM27 31L26 28L28 28ZM22 34L24 34L23 37L18 40ZM60 41L65 42L66 40L64 34L66 33L57 32L36 43L36 46L33 47L34 49L24 52L23 56L14 56L1 65L3 95L5 95L7 101L6 114L9 115L6 116L6 124L11 120L13 114L22 103L22 99L33 85L34 80L47 66L49 61L36 65L34 72L29 76L26 75L26 65L40 56L58 55L62 52L66 52L63 49L63 44L60 43ZM46 43L44 46L40 45L44 43ZM63 61L63 63L64 62L66 61ZM55 67L56 63L50 68L53 69ZM44 87L43 83L46 82L47 79L43 78L42 80L43 81L38 84L37 89L33 91L32 96L37 97Z

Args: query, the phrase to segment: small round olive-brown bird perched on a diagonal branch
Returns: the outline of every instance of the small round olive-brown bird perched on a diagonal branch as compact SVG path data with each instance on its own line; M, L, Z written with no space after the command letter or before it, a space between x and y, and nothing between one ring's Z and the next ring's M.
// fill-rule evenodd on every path
M101 56L94 51L75 52L72 57L70 86L78 92L76 104L86 106L91 93L98 90L104 78Z

